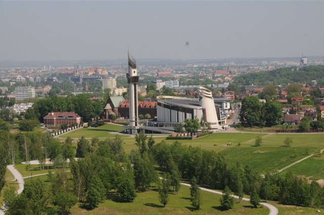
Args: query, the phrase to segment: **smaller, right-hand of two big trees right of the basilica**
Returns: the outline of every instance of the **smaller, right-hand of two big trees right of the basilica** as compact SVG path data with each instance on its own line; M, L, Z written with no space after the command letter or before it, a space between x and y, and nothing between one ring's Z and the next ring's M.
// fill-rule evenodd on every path
M264 109L264 118L267 125L273 126L280 123L283 115L281 105L277 101L267 101L264 105Z

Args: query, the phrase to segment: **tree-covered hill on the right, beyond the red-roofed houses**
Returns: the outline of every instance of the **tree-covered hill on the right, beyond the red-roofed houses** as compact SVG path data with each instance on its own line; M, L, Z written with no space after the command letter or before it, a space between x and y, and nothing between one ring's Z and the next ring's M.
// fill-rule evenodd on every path
M317 81L317 86L324 86L324 66L307 66L297 70L297 67L279 68L271 71L249 73L234 78L234 83L239 85L251 85L256 83L264 86L269 83L274 85L288 83L307 83L312 85L312 80Z

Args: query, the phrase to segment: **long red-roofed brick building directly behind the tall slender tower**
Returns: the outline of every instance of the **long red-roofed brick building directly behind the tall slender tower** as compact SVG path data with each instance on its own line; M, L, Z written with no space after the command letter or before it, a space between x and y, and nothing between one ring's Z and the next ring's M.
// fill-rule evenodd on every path
M129 101L121 101L118 106L118 114L120 117L129 118L129 109L130 102ZM156 101L139 101L138 102L138 115L145 116L149 114L151 118L157 116L156 114Z

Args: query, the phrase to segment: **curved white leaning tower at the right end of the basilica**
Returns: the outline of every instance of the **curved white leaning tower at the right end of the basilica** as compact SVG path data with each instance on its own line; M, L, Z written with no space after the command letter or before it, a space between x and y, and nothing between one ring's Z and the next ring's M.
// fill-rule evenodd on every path
M199 104L203 111L205 110L205 121L213 123L213 127L218 126L218 117L212 91L206 87L199 87Z

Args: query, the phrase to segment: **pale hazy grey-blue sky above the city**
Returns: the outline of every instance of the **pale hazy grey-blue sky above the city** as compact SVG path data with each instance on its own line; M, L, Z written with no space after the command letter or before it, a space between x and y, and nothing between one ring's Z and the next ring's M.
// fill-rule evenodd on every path
M0 1L0 61L324 56L324 2Z

